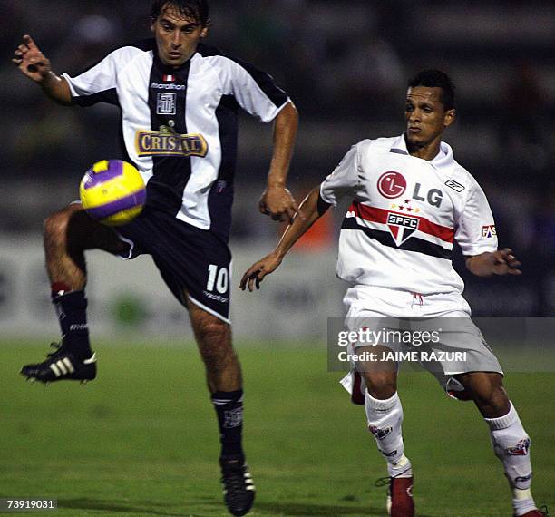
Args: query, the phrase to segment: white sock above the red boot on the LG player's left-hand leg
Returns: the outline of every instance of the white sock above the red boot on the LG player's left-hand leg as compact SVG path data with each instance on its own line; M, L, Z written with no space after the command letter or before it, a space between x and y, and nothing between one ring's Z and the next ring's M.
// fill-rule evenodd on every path
M399 395L378 400L365 393L365 410L368 429L374 434L378 450L385 457L387 471L394 477L411 477L411 463L404 455L404 443L401 425L403 424L403 406Z

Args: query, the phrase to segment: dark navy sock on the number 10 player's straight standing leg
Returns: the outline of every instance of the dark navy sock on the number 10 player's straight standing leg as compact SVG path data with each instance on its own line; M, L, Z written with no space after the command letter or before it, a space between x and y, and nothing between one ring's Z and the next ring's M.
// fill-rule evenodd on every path
M243 390L217 391L212 394L219 424L219 439L222 457L244 455L243 434Z

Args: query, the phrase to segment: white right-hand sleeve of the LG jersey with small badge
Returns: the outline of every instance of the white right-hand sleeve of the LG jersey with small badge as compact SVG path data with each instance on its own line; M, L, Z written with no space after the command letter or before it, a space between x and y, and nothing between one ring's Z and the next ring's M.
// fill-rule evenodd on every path
M472 257L486 251L497 250L497 232L492 210L482 188L475 183L456 221L454 238L463 255Z

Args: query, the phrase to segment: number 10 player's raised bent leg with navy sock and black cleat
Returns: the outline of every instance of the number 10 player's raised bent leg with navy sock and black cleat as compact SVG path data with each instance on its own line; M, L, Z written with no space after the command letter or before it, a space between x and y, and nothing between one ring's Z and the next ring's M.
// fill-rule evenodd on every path
M112 229L90 219L78 203L44 221L46 269L63 338L61 344L54 344L56 351L44 362L23 367L21 373L29 379L48 383L63 379L89 381L96 376L84 296L85 249L124 253L128 245Z

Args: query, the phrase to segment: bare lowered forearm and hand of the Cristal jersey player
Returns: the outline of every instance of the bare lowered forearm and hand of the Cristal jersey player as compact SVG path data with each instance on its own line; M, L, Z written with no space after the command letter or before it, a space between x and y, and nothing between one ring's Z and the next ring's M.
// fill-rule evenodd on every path
M268 172L268 188L264 190L258 209L274 220L293 221L298 206L286 188L287 172L297 138L298 112L293 102L277 114L274 126L274 152Z

